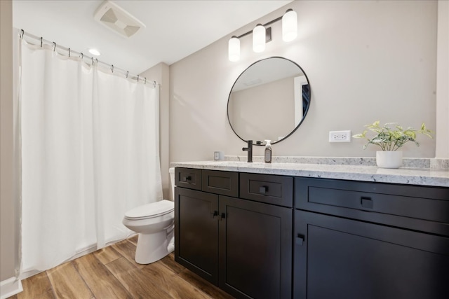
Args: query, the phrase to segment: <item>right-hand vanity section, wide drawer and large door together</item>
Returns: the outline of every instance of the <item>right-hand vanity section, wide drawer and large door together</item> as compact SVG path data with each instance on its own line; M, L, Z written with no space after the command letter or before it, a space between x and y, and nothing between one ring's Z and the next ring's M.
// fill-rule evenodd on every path
M293 298L448 298L449 189L295 178Z

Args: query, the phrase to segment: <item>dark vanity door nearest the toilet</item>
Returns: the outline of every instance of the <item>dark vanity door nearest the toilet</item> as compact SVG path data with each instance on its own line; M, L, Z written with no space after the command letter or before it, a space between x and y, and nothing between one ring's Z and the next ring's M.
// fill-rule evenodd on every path
M175 188L175 260L218 284L218 195Z

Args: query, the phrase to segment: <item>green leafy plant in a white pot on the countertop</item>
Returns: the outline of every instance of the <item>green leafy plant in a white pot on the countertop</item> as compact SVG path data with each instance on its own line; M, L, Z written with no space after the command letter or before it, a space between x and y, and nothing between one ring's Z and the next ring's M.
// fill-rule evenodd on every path
M415 142L417 146L420 146L416 141L417 134L424 134L427 137L432 138L433 132L428 130L426 125L422 123L420 130L415 130L413 127L404 129L397 123L386 123L383 127L379 125L380 121L377 120L371 125L365 125L368 130L364 130L361 134L355 134L354 138L365 138L368 142L363 146L366 149L369 144L380 146L382 151L376 152L376 163L378 167L382 168L398 168L402 165L402 151L398 151L408 141ZM374 132L374 137L367 137L368 132Z

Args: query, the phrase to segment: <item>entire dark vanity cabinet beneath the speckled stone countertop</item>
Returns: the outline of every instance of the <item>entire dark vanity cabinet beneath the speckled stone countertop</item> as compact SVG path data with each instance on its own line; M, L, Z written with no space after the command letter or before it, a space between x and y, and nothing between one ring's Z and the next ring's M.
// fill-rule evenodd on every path
M175 176L175 260L236 298L448 298L449 188Z

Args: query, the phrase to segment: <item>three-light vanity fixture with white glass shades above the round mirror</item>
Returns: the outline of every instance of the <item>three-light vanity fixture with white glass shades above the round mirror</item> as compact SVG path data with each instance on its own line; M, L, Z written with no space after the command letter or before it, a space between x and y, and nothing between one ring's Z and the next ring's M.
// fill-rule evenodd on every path
M240 39L248 34L253 34L253 51L260 53L265 50L265 43L272 41L272 28L267 27L274 22L282 20L283 41L293 41L297 36L297 14L293 9L288 9L282 17L276 18L266 24L257 24L256 27L240 36L232 36L228 42L229 61L236 62L240 59Z

